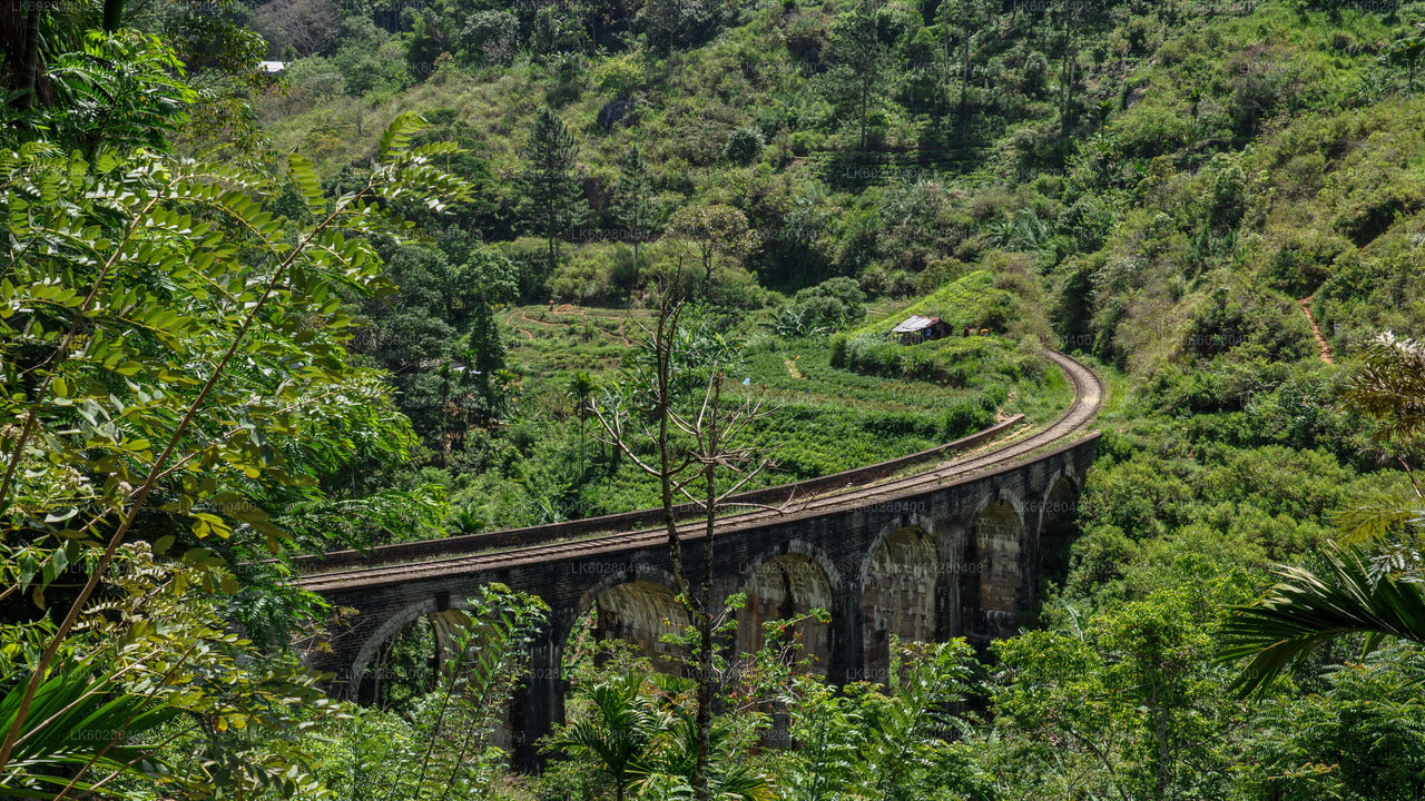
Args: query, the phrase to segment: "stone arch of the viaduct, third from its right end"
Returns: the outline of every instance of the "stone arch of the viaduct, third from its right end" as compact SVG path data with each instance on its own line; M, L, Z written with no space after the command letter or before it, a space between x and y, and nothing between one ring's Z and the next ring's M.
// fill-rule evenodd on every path
M940 557L933 526L919 516L882 529L861 569L865 677L889 678L891 636L933 641Z

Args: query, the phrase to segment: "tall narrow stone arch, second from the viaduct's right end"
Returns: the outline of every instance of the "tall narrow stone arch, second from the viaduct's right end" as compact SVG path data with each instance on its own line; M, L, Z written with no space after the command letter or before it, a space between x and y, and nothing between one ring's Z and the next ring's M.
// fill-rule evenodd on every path
M989 639L1015 627L1025 583L1022 503L995 500L975 515L965 542L960 603L966 633Z

